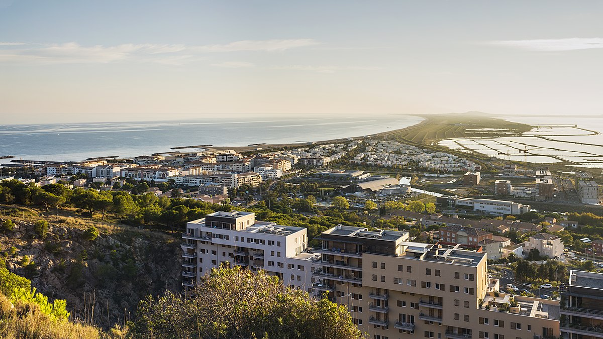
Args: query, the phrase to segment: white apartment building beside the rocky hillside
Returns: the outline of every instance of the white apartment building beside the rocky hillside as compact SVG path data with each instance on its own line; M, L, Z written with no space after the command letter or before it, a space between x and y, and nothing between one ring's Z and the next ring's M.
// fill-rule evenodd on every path
M186 224L182 276L192 287L214 267L229 262L265 270L284 284L311 291L312 270L320 255L306 252L303 227L256 221L250 212L215 212Z

